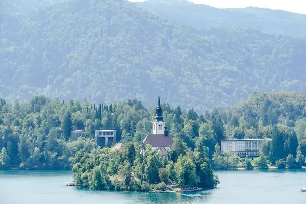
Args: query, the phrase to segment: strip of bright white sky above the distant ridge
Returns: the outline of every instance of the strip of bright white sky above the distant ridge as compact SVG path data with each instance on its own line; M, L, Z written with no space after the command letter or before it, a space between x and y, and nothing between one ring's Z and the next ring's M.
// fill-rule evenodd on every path
M192 0L191 2L207 4L218 8L243 8L256 6L306 14L306 0Z

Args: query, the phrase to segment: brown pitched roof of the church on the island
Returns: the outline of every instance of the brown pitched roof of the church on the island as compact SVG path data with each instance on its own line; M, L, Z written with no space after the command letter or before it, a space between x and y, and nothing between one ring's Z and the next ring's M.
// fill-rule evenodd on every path
M171 147L173 144L171 134L168 134L168 136L165 136L164 134L148 134L144 138L143 142L145 144L150 144L152 147Z

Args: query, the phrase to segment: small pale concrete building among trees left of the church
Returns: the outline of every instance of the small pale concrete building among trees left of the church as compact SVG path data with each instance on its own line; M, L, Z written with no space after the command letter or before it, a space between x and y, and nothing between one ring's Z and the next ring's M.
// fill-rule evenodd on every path
M101 147L111 146L116 143L117 131L116 130L96 130L95 137L97 144Z

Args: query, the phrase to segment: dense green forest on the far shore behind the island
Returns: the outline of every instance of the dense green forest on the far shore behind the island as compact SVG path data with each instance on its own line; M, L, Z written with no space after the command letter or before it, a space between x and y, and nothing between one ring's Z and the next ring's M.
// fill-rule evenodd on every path
M220 139L271 138L272 141L266 140L260 157L267 166L276 165L282 159L285 162L291 155L296 162L294 167L301 167L306 155L304 101L306 94L303 92L255 93L227 111L214 108L205 114L197 114L194 109L185 111L180 106L171 108L163 103L164 119L174 138L170 161L175 164L182 154L195 162L200 154L201 158L207 158L203 160L212 168L235 168L243 165L243 161L231 154L222 154ZM72 168L76 152L83 149L84 154L89 154L96 149L94 138L81 137L72 141L72 129L91 133L97 129L115 129L117 142L133 145L137 153L141 141L151 131L153 116L154 109L145 108L136 99L111 105L91 104L88 100L82 103L78 100L52 101L44 96L34 97L29 102L7 103L1 99L1 168ZM150 155L149 151L147 157ZM256 162L250 160L252 166L261 167ZM133 167L131 162L130 165Z

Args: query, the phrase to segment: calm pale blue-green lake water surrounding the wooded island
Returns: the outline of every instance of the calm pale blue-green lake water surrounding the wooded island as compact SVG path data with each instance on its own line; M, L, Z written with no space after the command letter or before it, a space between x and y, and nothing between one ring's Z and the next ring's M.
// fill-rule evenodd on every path
M216 171L218 188L198 193L148 194L80 190L65 186L70 171L0 171L1 204L54 203L306 203L305 170ZM81 197L80 197L81 196Z

